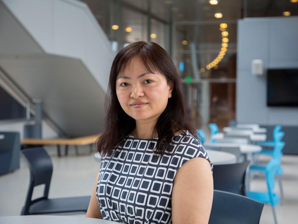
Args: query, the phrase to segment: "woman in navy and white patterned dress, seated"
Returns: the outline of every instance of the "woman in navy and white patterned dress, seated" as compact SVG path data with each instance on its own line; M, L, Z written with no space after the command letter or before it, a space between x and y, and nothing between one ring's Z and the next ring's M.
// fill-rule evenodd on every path
M208 223L212 163L187 113L180 76L153 42L111 67L100 171L86 217L123 223Z

